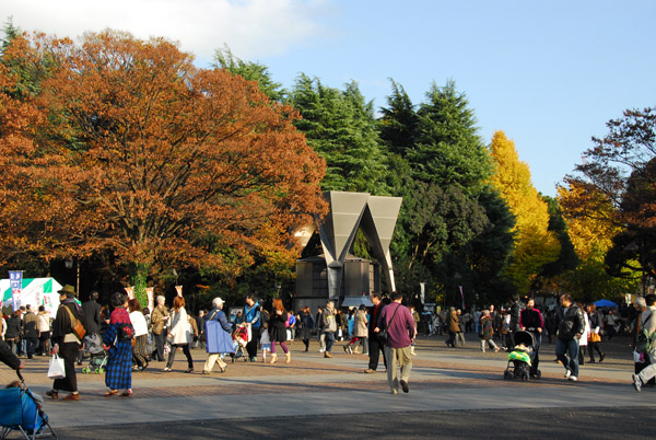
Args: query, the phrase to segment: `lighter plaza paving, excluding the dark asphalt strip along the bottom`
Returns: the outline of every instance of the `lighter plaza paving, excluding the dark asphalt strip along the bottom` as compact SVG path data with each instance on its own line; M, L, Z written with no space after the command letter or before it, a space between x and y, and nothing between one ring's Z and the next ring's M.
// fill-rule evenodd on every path
M470 336L470 337L473 337ZM503 380L504 352L482 354L475 343L465 349L444 346L444 338L418 341L410 393L389 394L385 373L364 374L367 358L345 355L336 344L332 359L316 351L301 352L293 343L292 362L274 366L229 363L224 374L185 374L183 356L174 370L151 369L133 374L134 395L104 397L104 375L79 374L80 402L47 401L46 412L55 429L98 428L132 424L191 424L195 420L237 420L305 416L425 412L555 410L583 406L600 412L634 406L656 408L656 390L636 393L631 386L632 360L626 340L605 344L609 356L604 363L582 367L579 381L563 380L564 369L552 361L554 345L541 350L543 379L530 382ZM192 350L197 372L206 354ZM379 369L383 369L380 364ZM38 393L51 384L46 378L47 359L30 361L25 370L28 386ZM11 371L2 369L0 380L9 382ZM200 421L199 421L200 422Z

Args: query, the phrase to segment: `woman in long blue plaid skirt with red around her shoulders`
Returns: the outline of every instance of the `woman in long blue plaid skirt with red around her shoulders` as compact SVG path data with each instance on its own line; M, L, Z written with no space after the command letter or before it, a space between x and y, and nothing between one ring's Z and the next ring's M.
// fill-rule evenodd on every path
M128 296L115 292L109 300L114 311L109 317L109 325L105 332L103 343L109 351L105 384L109 391L105 396L110 397L118 394L118 390L125 390L121 395L132 395L132 337L134 328L130 322L128 308Z

